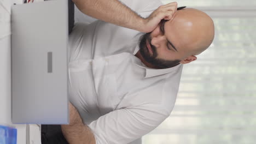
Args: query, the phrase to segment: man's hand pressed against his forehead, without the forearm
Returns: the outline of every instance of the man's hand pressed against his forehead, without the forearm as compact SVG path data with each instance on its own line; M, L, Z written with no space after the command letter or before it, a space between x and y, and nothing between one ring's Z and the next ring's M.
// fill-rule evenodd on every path
M173 14L177 11L177 2L161 5L158 9L145 19L144 28L142 32L152 32L162 19L171 20Z

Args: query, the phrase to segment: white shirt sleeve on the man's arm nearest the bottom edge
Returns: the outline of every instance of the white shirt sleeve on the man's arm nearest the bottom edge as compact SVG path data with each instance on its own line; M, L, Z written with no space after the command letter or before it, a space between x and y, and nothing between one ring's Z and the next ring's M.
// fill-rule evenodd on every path
M96 144L125 144L149 133L169 115L156 104L144 104L109 112L88 126L95 135Z

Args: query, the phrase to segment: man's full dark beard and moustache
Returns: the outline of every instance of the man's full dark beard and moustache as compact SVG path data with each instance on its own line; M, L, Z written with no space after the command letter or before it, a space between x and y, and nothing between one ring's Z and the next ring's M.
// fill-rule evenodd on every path
M147 44L146 44L147 40L153 51L153 56L150 55L149 50L147 48ZM151 41L150 33L146 33L142 35L141 41L139 42L139 52L141 53L141 56L144 58L146 62L154 65L158 69L171 68L179 64L179 62L181 62L179 59L176 59L174 61L167 61L165 59L156 58L158 56L158 53L156 52L156 47L152 45L150 41Z

